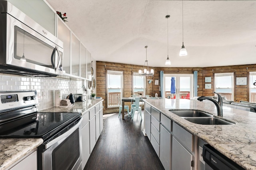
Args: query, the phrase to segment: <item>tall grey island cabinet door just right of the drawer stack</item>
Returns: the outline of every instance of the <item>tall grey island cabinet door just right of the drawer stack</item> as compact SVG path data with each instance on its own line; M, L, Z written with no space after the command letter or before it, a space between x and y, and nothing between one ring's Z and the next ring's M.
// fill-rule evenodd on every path
M161 115L162 116L162 115ZM171 169L172 134L160 125L160 161L165 170Z

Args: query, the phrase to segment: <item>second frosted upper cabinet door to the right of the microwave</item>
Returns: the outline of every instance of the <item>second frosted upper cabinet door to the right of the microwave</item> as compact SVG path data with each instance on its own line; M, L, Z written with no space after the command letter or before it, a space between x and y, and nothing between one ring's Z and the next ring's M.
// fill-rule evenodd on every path
M71 74L80 77L80 41L74 33L71 36L71 54Z

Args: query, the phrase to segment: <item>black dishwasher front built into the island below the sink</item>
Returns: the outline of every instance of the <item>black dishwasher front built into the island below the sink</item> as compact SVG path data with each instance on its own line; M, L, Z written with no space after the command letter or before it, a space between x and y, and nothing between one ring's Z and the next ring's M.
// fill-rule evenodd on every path
M224 154L206 144L203 146L205 170L244 170Z

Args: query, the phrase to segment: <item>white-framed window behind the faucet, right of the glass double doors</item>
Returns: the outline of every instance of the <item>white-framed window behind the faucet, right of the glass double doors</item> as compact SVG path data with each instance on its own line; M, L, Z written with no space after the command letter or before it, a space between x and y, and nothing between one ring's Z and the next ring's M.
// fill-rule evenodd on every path
M227 100L234 100L234 73L215 73L215 92L225 96Z

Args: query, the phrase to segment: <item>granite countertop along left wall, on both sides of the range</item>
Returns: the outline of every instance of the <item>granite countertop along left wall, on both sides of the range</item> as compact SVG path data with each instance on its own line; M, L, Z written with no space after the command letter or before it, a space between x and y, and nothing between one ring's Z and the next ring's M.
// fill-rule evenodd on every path
M48 109L39 110L38 112L56 112L56 113L84 113L91 107L102 102L103 99L86 100L84 102L76 102L73 107L50 107ZM10 167L20 158L36 149L43 143L43 139L0 139L0 170Z

